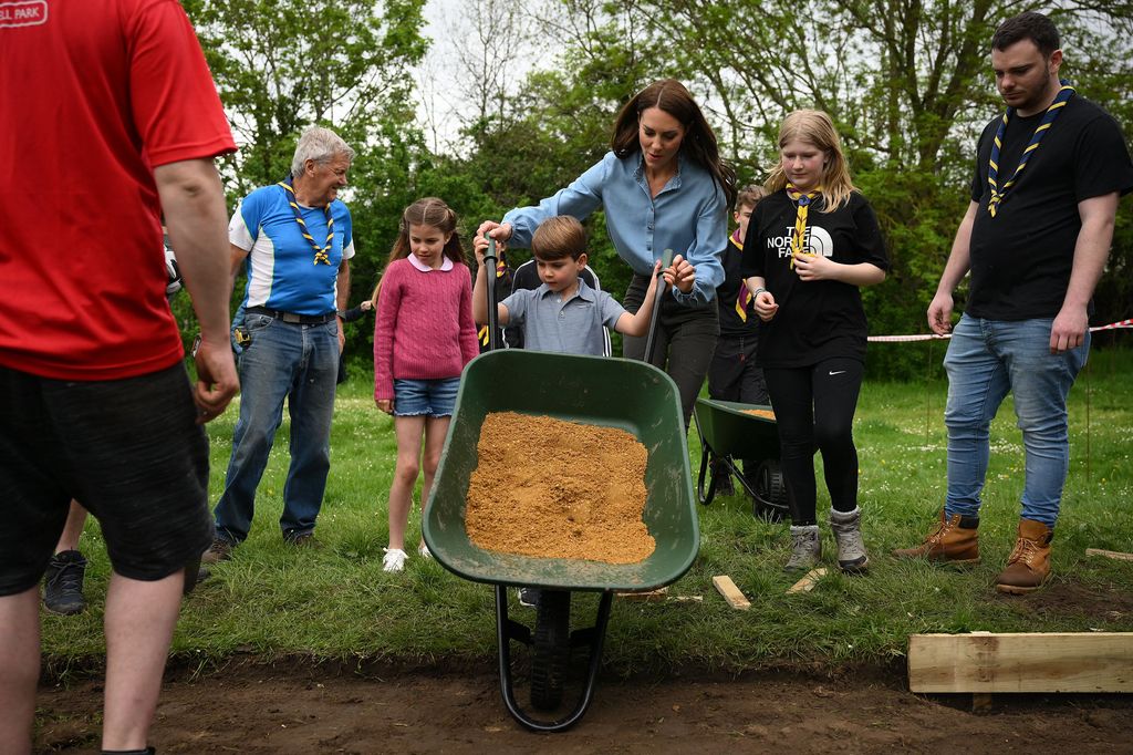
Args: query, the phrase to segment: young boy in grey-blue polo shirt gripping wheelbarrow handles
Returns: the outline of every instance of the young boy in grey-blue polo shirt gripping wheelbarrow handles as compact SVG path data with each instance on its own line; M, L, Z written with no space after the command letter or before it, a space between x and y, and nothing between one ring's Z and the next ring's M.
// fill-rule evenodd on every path
M488 320L484 271L487 244L479 237L475 244L478 269L472 288L472 316L477 324ZM544 221L531 237L531 254L543 283L534 290L518 290L496 305L501 328L511 324L523 329L523 348L602 356L603 326L624 336L645 336L649 330L661 262L654 265L653 281L641 308L630 314L610 294L595 291L579 278L586 268L586 230L574 218L557 215ZM664 277L670 285L683 283L693 280L696 271L685 262L680 269L666 269Z

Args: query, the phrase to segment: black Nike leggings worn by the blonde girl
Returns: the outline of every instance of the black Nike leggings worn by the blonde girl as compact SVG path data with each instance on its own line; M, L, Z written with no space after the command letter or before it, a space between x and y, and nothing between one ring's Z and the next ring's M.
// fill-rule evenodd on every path
M827 359L808 367L764 367L780 433L783 476L791 492L791 523L816 524L815 450L823 453L826 487L836 511L858 507L858 449L853 414L864 365Z

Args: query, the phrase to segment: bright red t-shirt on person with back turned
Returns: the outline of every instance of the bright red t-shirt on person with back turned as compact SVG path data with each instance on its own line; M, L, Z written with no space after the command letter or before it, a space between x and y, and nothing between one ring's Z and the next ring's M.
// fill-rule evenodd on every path
M0 5L0 365L117 380L181 359L153 168L235 150L177 0Z

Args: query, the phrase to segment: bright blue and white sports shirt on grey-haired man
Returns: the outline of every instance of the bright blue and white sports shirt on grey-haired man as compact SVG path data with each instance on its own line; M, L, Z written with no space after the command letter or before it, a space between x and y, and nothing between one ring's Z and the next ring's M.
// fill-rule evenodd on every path
M326 215L322 207L304 207L303 221L318 240L326 240ZM323 315L338 307L334 288L339 266L353 256L350 211L339 200L331 203L334 239L330 264L315 264L315 249L303 237L281 186L258 188L244 198L228 226L228 239L248 253L245 305L304 315Z

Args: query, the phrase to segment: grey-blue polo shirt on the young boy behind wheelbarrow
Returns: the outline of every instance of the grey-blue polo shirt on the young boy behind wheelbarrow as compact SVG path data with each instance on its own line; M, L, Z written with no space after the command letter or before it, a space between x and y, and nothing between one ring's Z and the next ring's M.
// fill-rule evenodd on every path
M595 291L578 279L578 294L566 302L546 283L519 290L501 302L509 324L523 329L523 348L560 354L602 356L606 340L602 328L613 329L625 309L606 291Z

